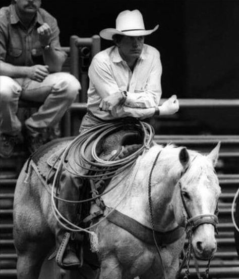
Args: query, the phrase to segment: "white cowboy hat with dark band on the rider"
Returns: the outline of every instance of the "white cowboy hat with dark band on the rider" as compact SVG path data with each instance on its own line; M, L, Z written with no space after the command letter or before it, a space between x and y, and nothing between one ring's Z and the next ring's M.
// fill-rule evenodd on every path
M151 30L145 30L143 16L139 10L123 11L116 18L116 28L106 28L100 31L100 36L112 40L114 34L124 36L147 36L158 29L158 25Z

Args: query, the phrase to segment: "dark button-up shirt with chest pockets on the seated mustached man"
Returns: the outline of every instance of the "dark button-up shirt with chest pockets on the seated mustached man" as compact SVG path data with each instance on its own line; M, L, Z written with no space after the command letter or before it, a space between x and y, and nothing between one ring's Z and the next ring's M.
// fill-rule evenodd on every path
M15 5L0 10L0 60L15 66L43 65L43 50L38 39L37 28L47 23L52 31L50 46L66 58L59 43L57 21L44 9L39 9L28 29L18 17Z

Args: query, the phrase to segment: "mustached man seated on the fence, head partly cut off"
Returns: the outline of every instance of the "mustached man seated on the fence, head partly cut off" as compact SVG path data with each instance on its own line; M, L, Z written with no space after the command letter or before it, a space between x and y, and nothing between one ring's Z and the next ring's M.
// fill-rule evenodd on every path
M0 155L11 156L21 138L19 99L43 103L25 121L28 147L43 144L42 133L55 126L75 100L79 81L60 72L66 60L55 18L41 0L15 0L0 10Z

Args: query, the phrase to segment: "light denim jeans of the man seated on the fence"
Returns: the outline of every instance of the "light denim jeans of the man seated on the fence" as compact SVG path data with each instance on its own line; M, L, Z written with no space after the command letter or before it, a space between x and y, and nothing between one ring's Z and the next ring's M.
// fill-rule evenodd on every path
M0 133L16 135L21 131L17 117L19 100L42 103L25 121L27 126L37 129L54 126L74 102L80 88L79 81L64 72L49 74L42 82L0 76Z

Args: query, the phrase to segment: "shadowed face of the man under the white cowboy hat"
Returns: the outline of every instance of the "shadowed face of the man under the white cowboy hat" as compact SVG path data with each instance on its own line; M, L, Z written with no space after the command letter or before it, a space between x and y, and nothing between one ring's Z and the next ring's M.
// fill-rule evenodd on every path
M144 36L124 36L116 45L118 46L118 52L121 57L126 61L132 58L137 59L143 50Z

